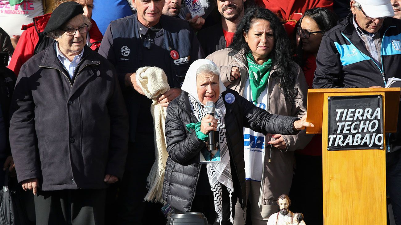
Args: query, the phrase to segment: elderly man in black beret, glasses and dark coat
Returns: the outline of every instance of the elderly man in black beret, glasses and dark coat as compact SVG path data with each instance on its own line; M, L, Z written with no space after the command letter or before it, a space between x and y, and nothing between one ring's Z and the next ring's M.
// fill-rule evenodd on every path
M12 100L12 155L38 225L104 224L105 190L124 173L122 92L113 66L85 45L82 13L76 2L54 10L44 32L57 42L22 66Z

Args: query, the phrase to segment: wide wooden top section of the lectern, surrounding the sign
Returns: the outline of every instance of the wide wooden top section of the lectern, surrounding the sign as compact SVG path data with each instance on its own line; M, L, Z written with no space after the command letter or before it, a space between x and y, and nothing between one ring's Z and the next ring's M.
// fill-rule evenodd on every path
M313 123L314 127L307 127L307 134L320 134L322 133L322 118L323 114L323 96L325 93L336 93L347 96L356 93L364 95L381 94L384 99L384 113L385 113L385 132L395 133L397 131L398 108L400 99L401 88L321 88L321 89L308 89L308 119L307 121ZM354 93L354 94L352 94ZM383 94L384 93L384 94ZM386 102L389 102L386 104ZM395 103L396 102L396 103ZM395 109L395 110L394 110Z

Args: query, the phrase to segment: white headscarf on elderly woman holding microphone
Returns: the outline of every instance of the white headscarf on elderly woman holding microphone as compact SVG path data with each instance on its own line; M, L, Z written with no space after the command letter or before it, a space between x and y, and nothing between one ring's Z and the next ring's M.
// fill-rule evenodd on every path
M182 83L181 90L184 90L188 92L192 98L194 98L199 104L202 104L201 100L198 98L198 88L196 88L196 71L198 71L198 68L201 67L204 64L211 64L216 66L214 62L208 59L198 59L189 66L188 71L186 72L184 82ZM219 69L218 66L216 66L217 69ZM221 93L223 93L226 90L226 87L224 86L223 82L221 81L220 74L217 74L219 76L219 98L221 97Z

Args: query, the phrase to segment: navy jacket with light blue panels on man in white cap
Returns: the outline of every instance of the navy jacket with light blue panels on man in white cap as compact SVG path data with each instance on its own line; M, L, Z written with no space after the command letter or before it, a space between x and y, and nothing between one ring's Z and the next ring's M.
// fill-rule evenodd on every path
M381 65L376 64L352 23L352 13L326 32L316 57L314 88L367 88L385 86L401 78L401 20L386 18L379 30ZM397 133L388 139L390 152L401 149L401 108Z

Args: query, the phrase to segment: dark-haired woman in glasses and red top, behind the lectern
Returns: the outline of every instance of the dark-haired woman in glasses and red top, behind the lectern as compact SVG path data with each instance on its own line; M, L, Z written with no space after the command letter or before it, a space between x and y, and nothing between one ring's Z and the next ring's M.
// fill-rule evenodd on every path
M326 8L312 8L305 11L298 24L297 62L304 71L309 88L312 88L320 42L323 34L336 25L336 17ZM296 150L294 155L296 169L290 191L292 211L303 213L306 224L322 224L322 136L315 135L304 149Z

